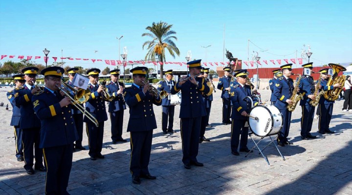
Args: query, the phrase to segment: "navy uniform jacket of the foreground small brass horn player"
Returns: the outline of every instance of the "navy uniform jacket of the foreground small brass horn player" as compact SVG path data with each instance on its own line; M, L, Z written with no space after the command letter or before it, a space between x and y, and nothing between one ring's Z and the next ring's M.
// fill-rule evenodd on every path
M143 91L135 85L124 89L125 101L130 108L130 120L127 132L151 131L156 129L153 104L160 106L161 98L155 98L149 92Z

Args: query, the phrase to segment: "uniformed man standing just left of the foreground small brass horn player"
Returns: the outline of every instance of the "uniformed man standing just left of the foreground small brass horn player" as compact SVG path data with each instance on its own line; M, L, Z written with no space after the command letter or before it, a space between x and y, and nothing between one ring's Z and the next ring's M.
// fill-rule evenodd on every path
M114 99L109 102L109 113L111 120L111 140L113 144L117 143L118 141L127 141L122 138L123 116L124 110L126 109L126 103L122 93L125 86L122 82L118 81L119 75L119 69L111 70L111 81L106 85L108 93L111 97L114 97Z

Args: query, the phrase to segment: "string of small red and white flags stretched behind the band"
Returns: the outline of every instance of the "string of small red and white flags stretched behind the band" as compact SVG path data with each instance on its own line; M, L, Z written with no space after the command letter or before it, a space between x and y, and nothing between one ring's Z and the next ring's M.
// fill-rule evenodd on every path
M2 60L2 59L4 59L4 58L9 58L9 59L16 59L16 57L17 57L17 59L27 59L27 60L31 60L31 59L33 59L33 56L13 56L13 55L1 55L1 59L0 60ZM177 64L177 65L180 65L180 66L182 66L182 65L186 65L187 63L186 62L171 62L171 61L164 61L164 62L162 62L162 61L145 61L145 60L126 60L126 61L122 61L122 60L111 60L111 59L104 59L104 60L102 60L102 59L82 59L82 58L58 58L58 57L51 57L52 59L54 59L54 62L56 62L56 60L57 59L68 59L68 60L83 60L83 61L88 61L88 60L90 60L90 61L92 61L93 63L95 63L96 61L104 61L106 64L108 64L108 65L112 65L112 66L115 66L115 65L121 65L121 64L123 64L124 63L124 66L127 66L127 65L136 65L136 64L143 64L143 65L145 65L145 64L150 64L150 63L153 63L154 65L157 65L157 64L160 64L160 65L163 65L163 64ZM41 56L34 56L34 59L42 59L42 57ZM44 59L44 62L47 62L48 61L48 59L49 59L49 57L43 57L43 59ZM298 63L298 64L303 64L303 59L302 58L298 58L298 59L295 59L295 58L293 58L293 59L283 59L285 62L286 62L286 64L288 64L288 63L293 63L293 64L296 64L296 62ZM296 61L297 60L297 61ZM281 63L283 63L283 61L282 61L282 59L270 59L269 60L269 62L268 62L268 60L261 60L261 61L237 61L237 65L242 65L242 62L246 65L246 66L248 66L249 67L249 65L251 66L251 67L253 67L254 66L254 64L255 63L258 63L258 65L269 65L268 63L272 63L272 64L274 64L274 65L276 65L276 63L278 63L279 65L281 65ZM222 65L228 65L230 62L203 62L203 65L204 66L208 66L208 65L210 65L210 66L214 66L214 65L216 65L216 66L222 66ZM236 62L234 62L234 61L232 61L231 62L232 64L235 64ZM263 63L263 64L262 64ZM270 64L271 65L271 64ZM188 66L187 66L188 67Z

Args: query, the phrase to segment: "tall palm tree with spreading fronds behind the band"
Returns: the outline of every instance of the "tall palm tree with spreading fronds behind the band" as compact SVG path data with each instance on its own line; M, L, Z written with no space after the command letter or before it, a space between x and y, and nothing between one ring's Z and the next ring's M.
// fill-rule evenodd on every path
M153 40L148 40L143 43L143 49L147 46L148 53L145 56L145 60L155 60L165 62L165 48L169 51L170 55L175 59L175 54L179 56L179 50L173 39L177 40L175 37L176 32L171 30L172 24L166 22L153 22L152 26L148 26L146 30L150 33L143 33L142 37L149 36ZM163 77L163 63L160 64L160 78Z

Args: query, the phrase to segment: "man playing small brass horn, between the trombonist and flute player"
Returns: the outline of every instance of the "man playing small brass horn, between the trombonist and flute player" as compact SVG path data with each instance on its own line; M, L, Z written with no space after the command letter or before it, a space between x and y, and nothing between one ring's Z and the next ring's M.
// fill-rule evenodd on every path
M150 84L146 81L147 71L146 67L133 68L130 71L133 84L124 90L125 100L130 108L127 132L131 136L130 171L134 184L140 184L140 178L156 179L149 173L148 165L153 130L156 129L153 104L160 106L161 98L150 93Z

